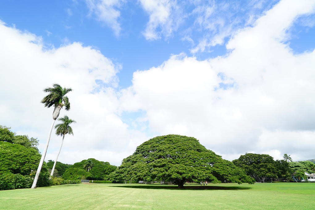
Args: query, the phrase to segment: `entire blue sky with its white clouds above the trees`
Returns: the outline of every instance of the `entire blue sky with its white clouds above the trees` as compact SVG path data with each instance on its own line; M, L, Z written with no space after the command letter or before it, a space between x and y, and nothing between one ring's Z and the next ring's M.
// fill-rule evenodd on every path
M314 158L314 1L2 1L0 21L0 124L41 150L52 112L42 90L72 87L60 116L78 123L61 162L119 165L167 134L228 160Z

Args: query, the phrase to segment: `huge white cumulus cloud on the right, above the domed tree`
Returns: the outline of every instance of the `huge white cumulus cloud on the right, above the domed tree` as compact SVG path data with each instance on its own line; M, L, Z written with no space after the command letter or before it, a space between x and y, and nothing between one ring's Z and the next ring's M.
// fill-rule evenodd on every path
M174 55L137 71L122 106L145 110L161 135L194 136L226 159L245 152L312 157L315 51L295 55L283 41L298 17L314 12L313 1L282 1L239 30L224 57Z

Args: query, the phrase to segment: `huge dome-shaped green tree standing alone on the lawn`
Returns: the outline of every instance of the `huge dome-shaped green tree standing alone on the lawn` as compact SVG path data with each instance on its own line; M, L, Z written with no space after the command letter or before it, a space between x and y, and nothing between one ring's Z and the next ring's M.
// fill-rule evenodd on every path
M123 159L113 179L176 181L184 188L186 181L253 183L245 172L221 156L207 150L193 137L157 136L136 148Z

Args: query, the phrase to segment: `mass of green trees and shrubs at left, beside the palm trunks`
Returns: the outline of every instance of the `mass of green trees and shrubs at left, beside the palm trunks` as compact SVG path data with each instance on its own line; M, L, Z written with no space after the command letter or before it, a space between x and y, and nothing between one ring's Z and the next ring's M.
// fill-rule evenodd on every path
M41 159L38 140L27 135L16 135L10 129L0 125L0 190L30 188ZM38 187L74 183L80 182L57 177L49 179L49 168L43 162Z

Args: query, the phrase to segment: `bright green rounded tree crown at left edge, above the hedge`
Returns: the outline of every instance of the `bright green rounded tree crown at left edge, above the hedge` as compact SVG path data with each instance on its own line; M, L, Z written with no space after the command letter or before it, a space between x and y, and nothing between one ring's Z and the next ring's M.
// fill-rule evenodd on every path
M0 174L29 175L36 170L40 156L32 147L0 141Z

